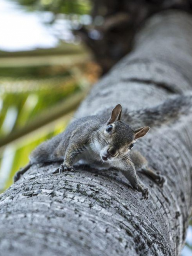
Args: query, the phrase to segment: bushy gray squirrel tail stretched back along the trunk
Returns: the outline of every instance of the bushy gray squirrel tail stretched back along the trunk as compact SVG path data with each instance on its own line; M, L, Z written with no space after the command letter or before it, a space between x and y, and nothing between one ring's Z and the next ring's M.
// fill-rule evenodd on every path
M160 127L177 122L182 116L192 114L192 93L171 97L163 103L140 110L132 111L125 116L127 123L133 127L149 126Z

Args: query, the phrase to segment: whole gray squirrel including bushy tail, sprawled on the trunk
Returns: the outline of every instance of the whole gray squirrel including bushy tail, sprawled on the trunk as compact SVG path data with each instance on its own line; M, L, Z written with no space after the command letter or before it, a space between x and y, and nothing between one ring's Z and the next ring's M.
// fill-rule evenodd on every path
M147 160L138 151L131 149L139 138L148 133L148 125L153 129L162 125L169 126L187 115L190 112L191 99L191 95L181 95L165 100L155 107L130 113L124 111L124 122L121 120L120 104L113 108L109 119L108 111L76 119L64 132L32 151L29 164L16 173L14 181L19 180L32 164L63 161L55 171L61 173L74 171L74 164L84 160L88 164L120 170L132 187L142 192L144 198L148 198L148 188L138 180L137 171L144 172L159 185L163 185L165 179L150 170ZM133 129L127 123L133 127L141 127Z

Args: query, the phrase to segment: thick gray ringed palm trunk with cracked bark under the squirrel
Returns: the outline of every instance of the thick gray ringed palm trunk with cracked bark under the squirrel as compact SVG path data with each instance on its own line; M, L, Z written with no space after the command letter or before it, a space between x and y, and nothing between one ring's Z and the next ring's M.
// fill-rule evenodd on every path
M76 117L121 103L129 111L191 91L192 17L164 12L138 33L133 52L95 84ZM179 255L192 204L192 119L150 131L137 143L149 166L166 176L140 200L117 171L34 165L0 195L0 255Z

